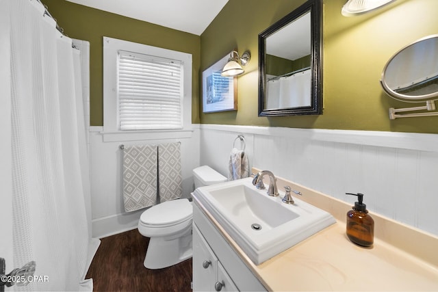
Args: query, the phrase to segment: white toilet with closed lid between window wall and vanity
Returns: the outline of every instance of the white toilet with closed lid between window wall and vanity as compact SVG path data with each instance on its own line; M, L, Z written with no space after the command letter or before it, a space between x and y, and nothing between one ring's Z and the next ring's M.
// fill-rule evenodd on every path
M194 185L223 183L227 178L207 165L193 170ZM138 231L150 237L144 267L162 269L192 257L192 202L177 199L157 204L142 213Z

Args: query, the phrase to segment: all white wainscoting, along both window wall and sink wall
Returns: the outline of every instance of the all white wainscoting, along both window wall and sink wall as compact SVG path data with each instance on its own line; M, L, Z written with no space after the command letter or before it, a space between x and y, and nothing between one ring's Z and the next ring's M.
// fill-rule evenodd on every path
M438 235L438 135L213 124L193 128L192 137L174 139L181 141L184 197L193 190L192 169L199 165L227 176L233 142L243 134L250 167L272 170L352 205L356 198L345 193L363 193L368 209ZM136 228L142 213L123 208L120 144L166 140L103 142L102 128L90 129L92 231L101 238Z

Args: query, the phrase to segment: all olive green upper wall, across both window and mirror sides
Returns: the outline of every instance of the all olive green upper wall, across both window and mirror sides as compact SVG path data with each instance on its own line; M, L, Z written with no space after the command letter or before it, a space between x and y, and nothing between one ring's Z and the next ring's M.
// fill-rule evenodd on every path
M389 120L389 107L411 105L389 98L379 84L391 55L438 33L437 0L397 0L357 17L340 13L346 0L324 0L324 114L272 118L257 116L257 36L305 0L229 0L201 37L65 0L42 1L68 36L90 42L92 126L103 124L102 37L109 36L192 53L194 123L438 133L438 117ZM233 49L252 57L238 77L238 110L203 114L202 72Z

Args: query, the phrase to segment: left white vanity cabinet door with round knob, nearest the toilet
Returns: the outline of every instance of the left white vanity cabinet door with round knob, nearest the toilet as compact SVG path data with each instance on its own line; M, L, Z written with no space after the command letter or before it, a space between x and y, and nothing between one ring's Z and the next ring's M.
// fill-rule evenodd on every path
M193 291L215 291L218 274L218 258L193 225Z

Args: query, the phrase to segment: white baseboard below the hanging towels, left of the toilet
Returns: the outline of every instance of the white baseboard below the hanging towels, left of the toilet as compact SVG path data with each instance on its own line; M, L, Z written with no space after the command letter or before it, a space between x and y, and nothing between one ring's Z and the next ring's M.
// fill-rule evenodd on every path
M101 217L92 220L92 236L103 238L136 229L144 210Z

